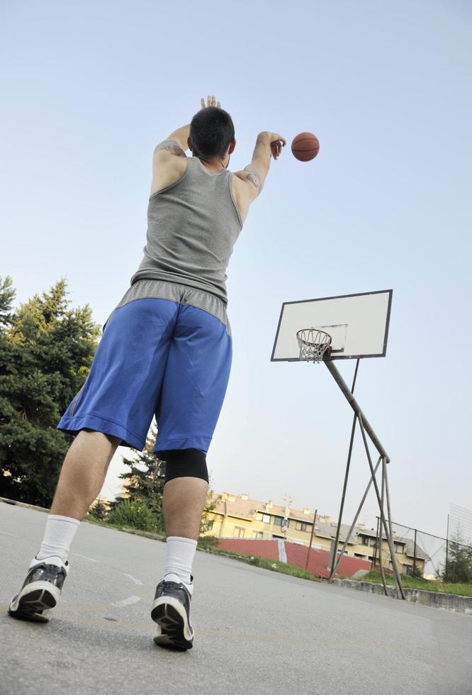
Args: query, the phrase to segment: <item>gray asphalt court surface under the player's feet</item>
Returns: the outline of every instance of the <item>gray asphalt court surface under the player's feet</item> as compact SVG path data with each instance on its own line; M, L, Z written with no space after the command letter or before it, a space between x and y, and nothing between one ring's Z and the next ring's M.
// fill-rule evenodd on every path
M197 552L189 652L152 641L164 543L82 523L50 623L6 614L46 515L0 504L1 695L472 694L472 617ZM380 679L380 680L379 680Z

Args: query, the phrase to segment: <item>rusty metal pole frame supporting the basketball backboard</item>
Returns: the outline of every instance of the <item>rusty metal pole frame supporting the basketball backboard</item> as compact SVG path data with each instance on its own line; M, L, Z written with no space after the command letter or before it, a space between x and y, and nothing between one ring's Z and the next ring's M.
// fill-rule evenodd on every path
M356 526L356 521L359 518L359 514L361 513L361 509L364 506L364 502L366 500L366 496L369 492L369 489L371 488L371 484L373 483L373 486L376 491L376 496L377 496L377 501L378 501L378 506L380 508L380 524L379 524L379 530L378 530L378 538L380 539L378 542L378 559L379 559L379 565L381 569L381 575L382 575L382 583L383 583L383 591L385 594L387 594L387 585L385 581L385 575L383 572L383 567L382 567L382 527L383 530L385 531L386 535L386 540L388 543L388 547L390 550L390 557L392 559L392 567L393 567L393 573L395 575L395 589L396 589L396 594L398 599L405 599L405 593L403 591L403 585L401 582L400 578L400 573L398 572L398 567L397 563L395 562L395 548L393 546L393 532L392 532L392 523L391 523L391 514L390 514L390 494L388 491L388 476L387 476L387 464L390 462L390 457L388 456L386 450L383 448L381 445L380 440L378 439L376 433L373 431L373 428L371 427L371 424L367 420L366 416L364 413L361 411L361 408L359 404L357 403L356 399L354 398L354 386L356 384L356 377L357 377L357 370L359 368L359 360L357 360L356 363L356 371L354 372L354 380L352 384L352 389L349 389L348 385L346 382L344 382L344 379L342 378L341 374L339 374L339 370L337 369L336 365L329 359L328 356L325 357L325 365L327 369L329 370L330 374L332 377L335 379L335 382L339 386L339 389L341 389L342 393L344 394L345 398L347 399L349 405L352 407L354 411L354 420L352 423L352 431L351 431L351 440L349 442L349 453L347 457L347 468L346 468L346 474L344 477L344 486L342 490L342 501L341 501L341 508L339 511L339 519L337 522L337 532L336 532L336 541L335 541L335 561L332 562L332 567L330 568L330 579L329 581L332 582L332 580L335 578L336 570L337 567L339 567L339 562L341 562L342 557L344 555L344 550L346 550L347 544L349 543L349 540L352 536L352 533L354 531L354 527ZM366 491L364 492L364 496L361 499L361 504L359 505L359 508L357 509L356 516L354 517L354 521L352 522L351 528L349 528L349 533L347 533L347 537L344 540L344 545L342 547L342 550L339 552L339 555L337 555L337 543L339 541L339 532L341 528L341 523L342 523L342 511L344 508L344 499L346 495L346 489L347 489L347 477L349 475L349 467L351 464L351 457L352 457L352 447L354 444L354 433L355 433L355 428L356 428L356 423L359 422L359 428L361 430L361 435L362 435L362 440L364 442L364 447L366 450L366 457L369 462L369 468L371 471L371 478L369 479L369 484L366 487ZM369 438L373 445L376 447L376 450L378 452L378 461L376 463L375 469L373 468L372 465L372 460L371 460L371 453L369 451L369 444L367 442L366 435L369 435ZM378 484L376 480L376 472L378 467L382 464L382 482L381 482L381 491L378 489ZM383 508L385 506L385 501L387 503L387 513L388 513L388 523L386 516L383 512Z

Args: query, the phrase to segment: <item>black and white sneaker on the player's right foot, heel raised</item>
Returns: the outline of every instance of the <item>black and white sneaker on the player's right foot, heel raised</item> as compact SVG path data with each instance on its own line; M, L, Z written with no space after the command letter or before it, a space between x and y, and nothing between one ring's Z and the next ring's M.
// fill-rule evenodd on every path
M151 618L157 623L154 642L159 647L178 650L192 648L190 602L191 595L184 584L166 582L164 579L157 584Z

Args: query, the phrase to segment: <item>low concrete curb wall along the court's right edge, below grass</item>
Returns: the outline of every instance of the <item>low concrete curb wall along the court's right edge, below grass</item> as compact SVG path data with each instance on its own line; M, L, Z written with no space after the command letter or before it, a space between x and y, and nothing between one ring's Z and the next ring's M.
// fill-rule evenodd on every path
M352 579L334 579L333 584L344 586L357 591L367 591L369 594L385 596L382 584L373 582L355 582ZM403 587L405 598L412 604L442 608L444 611L454 611L472 616L472 596L459 596L458 594L442 594L438 591L424 591L423 589L407 589ZM395 586L387 586L387 594L396 599Z

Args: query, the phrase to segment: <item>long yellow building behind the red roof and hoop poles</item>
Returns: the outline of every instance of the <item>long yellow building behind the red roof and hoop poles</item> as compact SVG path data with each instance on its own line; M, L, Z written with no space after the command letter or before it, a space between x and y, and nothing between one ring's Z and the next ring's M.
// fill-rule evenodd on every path
M223 492L213 494L216 501L213 511L207 513L208 529L205 535L215 535L218 538L259 538L271 540L282 538L290 543L309 545L315 514L308 508L292 509L279 506L273 501L264 502L249 499L248 494L230 494ZM341 524L338 550L342 550L344 540L350 525ZM337 524L330 516L318 514L312 547L319 550L331 550L336 537ZM376 530L365 528L358 523L349 539L345 555L357 557L359 560L373 560L376 547ZM413 542L408 538L400 538L393 534L395 560L403 574L411 572L413 567ZM378 561L378 552L376 553ZM425 562L429 560L426 553L416 546L416 566L421 574L425 572ZM382 537L382 565L392 569L390 550L385 535Z

